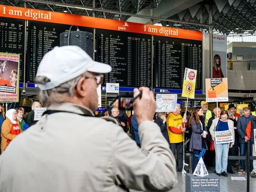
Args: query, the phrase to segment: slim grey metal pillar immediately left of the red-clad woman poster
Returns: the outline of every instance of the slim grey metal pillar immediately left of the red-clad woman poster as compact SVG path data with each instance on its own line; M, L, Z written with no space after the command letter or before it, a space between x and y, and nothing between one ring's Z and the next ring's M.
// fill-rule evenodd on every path
M209 25L212 25L212 1L209 2ZM209 77L212 78L212 67L213 67L213 52L212 52L212 26L209 26Z

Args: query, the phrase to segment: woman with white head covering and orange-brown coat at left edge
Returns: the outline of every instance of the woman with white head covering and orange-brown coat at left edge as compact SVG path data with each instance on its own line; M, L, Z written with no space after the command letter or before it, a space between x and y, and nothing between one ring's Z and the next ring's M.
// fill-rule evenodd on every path
M2 124L1 130L1 152L6 149L7 145L22 131L20 122L17 120L17 111L10 109L6 111L6 120Z

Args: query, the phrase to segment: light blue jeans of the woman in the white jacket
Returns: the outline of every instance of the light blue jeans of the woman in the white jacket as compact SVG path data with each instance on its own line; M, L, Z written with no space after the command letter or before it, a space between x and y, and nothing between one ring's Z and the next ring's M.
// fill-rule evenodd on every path
M216 173L227 172L227 157L228 157L228 143L224 144L216 144L216 140L214 140L214 148L215 148L215 170Z

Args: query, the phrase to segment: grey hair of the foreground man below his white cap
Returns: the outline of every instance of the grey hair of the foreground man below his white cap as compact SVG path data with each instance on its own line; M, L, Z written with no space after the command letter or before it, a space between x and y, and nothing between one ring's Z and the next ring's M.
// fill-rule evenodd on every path
M64 102L64 97L71 97L74 94L74 89L78 83L78 81L81 79L81 77L86 77L87 73L84 73L74 79L71 79L70 81L67 81L58 87L55 87L50 90L40 90L38 93L39 99L41 99L41 102L44 103L46 107L51 105L52 103L62 103ZM48 79L45 76L37 76L35 77L35 82L38 84L46 84L50 82L50 79Z

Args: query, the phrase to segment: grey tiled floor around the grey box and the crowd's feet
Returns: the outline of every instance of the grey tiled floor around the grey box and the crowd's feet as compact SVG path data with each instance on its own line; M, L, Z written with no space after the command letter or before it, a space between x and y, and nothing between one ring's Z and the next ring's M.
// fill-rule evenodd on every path
M191 155L186 155L186 160L189 161L189 170L191 172ZM187 163L187 162L186 162ZM209 173L214 172L213 167L207 167ZM235 174L227 173L228 177L221 176L221 191L220 192L246 192L247 186L247 171L243 174L238 174L238 169L233 169ZM246 180L231 180L231 177L245 177ZM177 173L177 179L179 181L179 185L172 189L170 192L185 192L185 180L186 174ZM182 184L180 184L182 183ZM136 192L134 190L130 190L130 192ZM250 192L256 192L256 178L250 177Z

